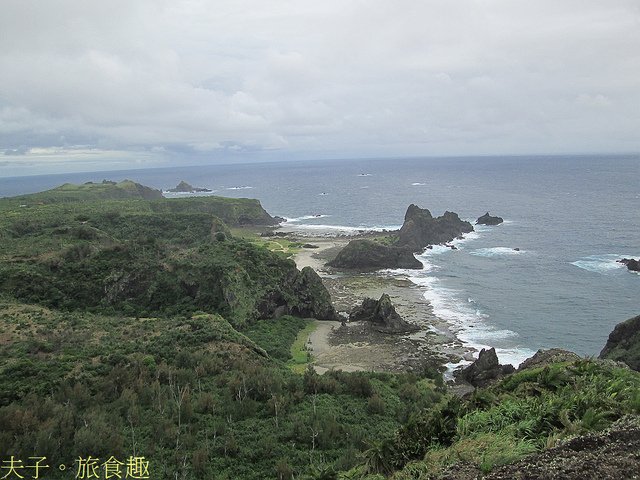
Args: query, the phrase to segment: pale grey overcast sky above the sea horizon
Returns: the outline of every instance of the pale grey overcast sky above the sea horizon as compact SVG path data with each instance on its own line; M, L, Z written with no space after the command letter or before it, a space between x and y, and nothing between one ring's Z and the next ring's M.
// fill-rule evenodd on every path
M0 176L640 151L637 0L2 0Z

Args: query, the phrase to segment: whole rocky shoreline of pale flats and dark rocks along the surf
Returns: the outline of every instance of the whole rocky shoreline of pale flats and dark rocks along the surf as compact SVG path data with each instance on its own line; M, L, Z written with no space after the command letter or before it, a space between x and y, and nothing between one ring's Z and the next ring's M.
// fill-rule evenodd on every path
M439 228L435 227L438 223ZM412 265L398 252L411 252L411 258L420 263L412 250L428 248L430 244L425 244L425 239L446 244L452 237L472 229L455 213L446 212L442 217L434 218L428 210L411 205L403 228L385 232L382 239L379 233L337 238L305 237L305 241L317 248L298 253L295 256L298 267L312 266L319 273L341 318L340 322L331 322L331 326L325 324L323 327L327 328L319 328L318 333L312 335L310 348L315 357L315 368L319 372L328 369L400 372L430 366L447 370L446 377L452 389L460 394L516 371L512 365L499 364L495 349L483 350L478 355L457 339L433 314L422 292L408 279L375 273L384 268L421 268L421 265ZM379 300L375 300L377 298ZM388 315L393 320L389 324L380 316L375 318L380 303L391 312ZM612 332L601 358L623 361L631 368L639 368L634 363L635 350L629 353L640 345L640 337L636 338L640 335L640 326L636 325L638 318L623 322ZM629 333L629 329L633 333ZM626 333L621 336L622 330ZM629 338L632 340L625 343ZM322 346L318 348L318 344ZM579 358L560 349L539 351L525 360L520 369ZM454 365L458 368L452 376Z

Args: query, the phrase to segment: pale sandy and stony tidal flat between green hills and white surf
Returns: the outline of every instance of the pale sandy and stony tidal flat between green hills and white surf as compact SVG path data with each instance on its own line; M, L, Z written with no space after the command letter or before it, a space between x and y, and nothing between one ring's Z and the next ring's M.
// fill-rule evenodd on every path
M362 322L316 321L309 349L318 373L330 369L414 371L457 363L468 354L468 349L433 315L421 290L407 278L377 272L337 272L327 267L326 263L349 242L348 237L306 237L305 241L317 248L297 253L296 265L310 266L318 272L345 319L365 297L378 299L387 293L397 312L421 327L417 333L389 335L371 330Z

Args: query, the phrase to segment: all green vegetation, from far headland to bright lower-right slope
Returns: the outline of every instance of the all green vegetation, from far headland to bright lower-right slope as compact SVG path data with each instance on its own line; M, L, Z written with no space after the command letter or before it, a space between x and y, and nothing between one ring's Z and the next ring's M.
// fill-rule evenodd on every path
M318 375L315 321L282 314L335 314L322 282L283 258L292 245L227 226L261 221L259 203L145 188L0 199L0 460L138 455L154 479L436 478L640 413L640 374L595 361L464 401L431 370Z

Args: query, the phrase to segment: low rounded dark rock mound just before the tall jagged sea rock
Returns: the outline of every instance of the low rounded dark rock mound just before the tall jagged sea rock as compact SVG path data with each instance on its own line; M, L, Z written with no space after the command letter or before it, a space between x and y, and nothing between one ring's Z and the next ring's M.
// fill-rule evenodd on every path
M352 240L327 265L353 270L422 268L411 249L389 247L373 240Z

